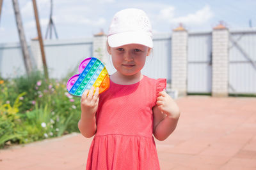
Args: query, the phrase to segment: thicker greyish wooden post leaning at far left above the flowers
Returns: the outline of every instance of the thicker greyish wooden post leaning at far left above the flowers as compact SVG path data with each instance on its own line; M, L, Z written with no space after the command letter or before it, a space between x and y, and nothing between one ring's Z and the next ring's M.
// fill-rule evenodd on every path
M15 12L17 29L18 29L18 32L19 32L20 46L22 48L24 64L25 64L25 67L26 67L27 74L30 74L31 71L32 71L32 64L31 64L31 60L30 60L30 57L29 57L28 46L27 46L27 43L26 43L24 29L23 29L23 26L22 26L22 20L21 20L21 17L20 17L19 4L18 4L17 0L12 0L12 3L13 3L13 9L14 9L14 12Z

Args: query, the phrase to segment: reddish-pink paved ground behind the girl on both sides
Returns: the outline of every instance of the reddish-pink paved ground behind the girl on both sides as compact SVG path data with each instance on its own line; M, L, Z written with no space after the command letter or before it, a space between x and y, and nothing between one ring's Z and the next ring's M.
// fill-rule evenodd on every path
M182 97L177 129L156 141L162 170L256 169L256 98ZM0 150L0 169L84 169L81 134Z

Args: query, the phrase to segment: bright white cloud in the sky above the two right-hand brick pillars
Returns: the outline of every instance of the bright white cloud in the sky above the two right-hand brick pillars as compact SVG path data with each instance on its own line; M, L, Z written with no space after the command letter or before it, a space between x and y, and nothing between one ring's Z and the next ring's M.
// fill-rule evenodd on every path
M183 24L191 24L191 25L200 25L207 22L214 16L213 12L211 11L210 6L206 5L202 10L198 10L195 13L190 13L185 17L177 17L172 18L170 20L171 23L183 23Z

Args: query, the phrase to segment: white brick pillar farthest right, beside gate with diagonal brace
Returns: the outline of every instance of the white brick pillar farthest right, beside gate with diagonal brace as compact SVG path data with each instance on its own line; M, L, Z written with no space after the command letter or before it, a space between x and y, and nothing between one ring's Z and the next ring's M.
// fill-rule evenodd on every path
M229 31L222 24L212 31L212 96L228 96Z

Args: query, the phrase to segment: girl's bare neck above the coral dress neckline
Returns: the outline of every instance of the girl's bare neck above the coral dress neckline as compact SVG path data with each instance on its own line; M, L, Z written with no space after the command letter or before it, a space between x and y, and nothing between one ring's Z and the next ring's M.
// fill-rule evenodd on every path
M142 78L143 74L141 74L141 72L131 76L125 76L116 71L114 74L110 76L111 81L120 85L132 85L134 83L138 83L140 80L142 80Z

